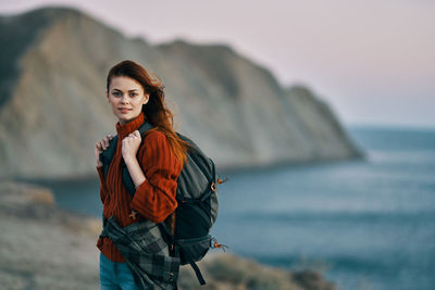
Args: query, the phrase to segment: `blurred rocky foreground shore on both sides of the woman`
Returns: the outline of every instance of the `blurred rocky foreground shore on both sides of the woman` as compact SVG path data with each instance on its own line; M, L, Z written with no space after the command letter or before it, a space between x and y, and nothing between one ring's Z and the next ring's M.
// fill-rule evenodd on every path
M0 280L4 289L99 289L101 222L55 205L44 187L0 181ZM212 252L199 262L208 282L201 289L335 290L321 273L283 270ZM179 289L197 289L190 269L181 269Z

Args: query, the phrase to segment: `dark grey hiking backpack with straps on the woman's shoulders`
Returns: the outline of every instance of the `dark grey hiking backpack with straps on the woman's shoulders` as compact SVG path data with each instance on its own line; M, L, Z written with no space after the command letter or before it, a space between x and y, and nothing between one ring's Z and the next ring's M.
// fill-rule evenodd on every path
M153 126L145 121L139 127L141 136ZM216 177L214 162L208 157L198 146L184 135L178 137L190 144L187 153L187 162L184 164L177 179L175 210L175 232L169 228L165 222L159 224L167 244L173 250L173 254L181 257L181 264L190 264L201 285L206 281L197 264L207 254L210 248L222 248L224 244L217 243L209 232L217 217L219 200L217 184L222 180ZM144 140L144 138L142 138ZM111 141L107 150L100 154L103 164L104 176L109 172L110 163L116 151L117 136ZM121 161L123 184L127 191L134 196L135 185L129 176L124 160Z

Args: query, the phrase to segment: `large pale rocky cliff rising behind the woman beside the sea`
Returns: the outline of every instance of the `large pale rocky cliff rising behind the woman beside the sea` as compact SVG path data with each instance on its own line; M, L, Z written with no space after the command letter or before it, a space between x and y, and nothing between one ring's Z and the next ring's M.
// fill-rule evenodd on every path
M308 88L282 88L227 46L151 46L58 8L0 17L0 177L95 175L95 142L116 123L105 76L125 59L162 78L178 131L219 167L359 155Z

